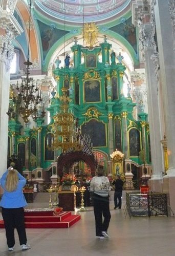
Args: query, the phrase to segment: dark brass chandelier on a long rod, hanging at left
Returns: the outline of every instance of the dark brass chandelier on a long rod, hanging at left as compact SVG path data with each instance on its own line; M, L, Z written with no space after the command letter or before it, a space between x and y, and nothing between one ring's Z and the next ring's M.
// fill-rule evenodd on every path
M7 114L9 116L14 116L19 114L23 117L24 122L29 121L31 116L34 121L37 118L43 118L46 114L44 111L44 106L41 106L41 91L37 86L37 83L34 82L33 77L29 77L30 66L32 62L29 61L29 48L30 48L30 30L31 30L31 0L29 3L29 41L28 41L28 57L27 61L24 62L26 65L26 77L21 77L20 87L17 86L13 89L13 104L9 106L9 111ZM15 105L13 109L12 106ZM41 111L42 108L42 111Z

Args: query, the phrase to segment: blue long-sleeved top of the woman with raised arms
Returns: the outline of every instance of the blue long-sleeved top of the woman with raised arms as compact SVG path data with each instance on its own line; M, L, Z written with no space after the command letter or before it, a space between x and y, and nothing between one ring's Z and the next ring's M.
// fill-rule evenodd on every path
M3 174L0 183L4 188L4 194L0 202L0 206L3 208L20 208L27 205L25 196L23 194L23 187L26 184L26 179L18 173L19 182L15 191L9 192L6 190L6 178L9 170Z

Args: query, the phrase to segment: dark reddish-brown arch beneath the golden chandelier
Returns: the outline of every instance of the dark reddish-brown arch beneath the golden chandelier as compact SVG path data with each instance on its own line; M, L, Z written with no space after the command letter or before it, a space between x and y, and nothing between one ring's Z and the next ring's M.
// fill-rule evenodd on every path
M95 157L94 155L86 155L82 151L75 151L75 152L70 152L66 154L62 154L58 157L58 163L57 163L57 168L58 168L58 175L60 177L60 180L63 176L63 167L68 164L73 164L74 162L78 161L84 161L86 164L88 164L91 168L91 175L95 176Z

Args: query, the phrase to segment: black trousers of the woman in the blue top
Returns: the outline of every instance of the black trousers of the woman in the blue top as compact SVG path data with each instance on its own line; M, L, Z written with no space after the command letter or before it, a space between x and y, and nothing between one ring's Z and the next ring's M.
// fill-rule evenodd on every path
M13 247L15 244L14 229L16 228L20 245L27 243L24 208L3 208L2 216L6 229L6 238L8 247Z

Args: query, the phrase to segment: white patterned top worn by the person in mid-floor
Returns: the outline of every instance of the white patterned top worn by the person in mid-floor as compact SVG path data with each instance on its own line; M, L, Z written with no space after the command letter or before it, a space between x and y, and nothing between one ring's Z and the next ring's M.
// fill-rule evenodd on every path
M101 197L108 197L108 191L111 190L110 181L105 176L93 177L90 184L90 191Z

